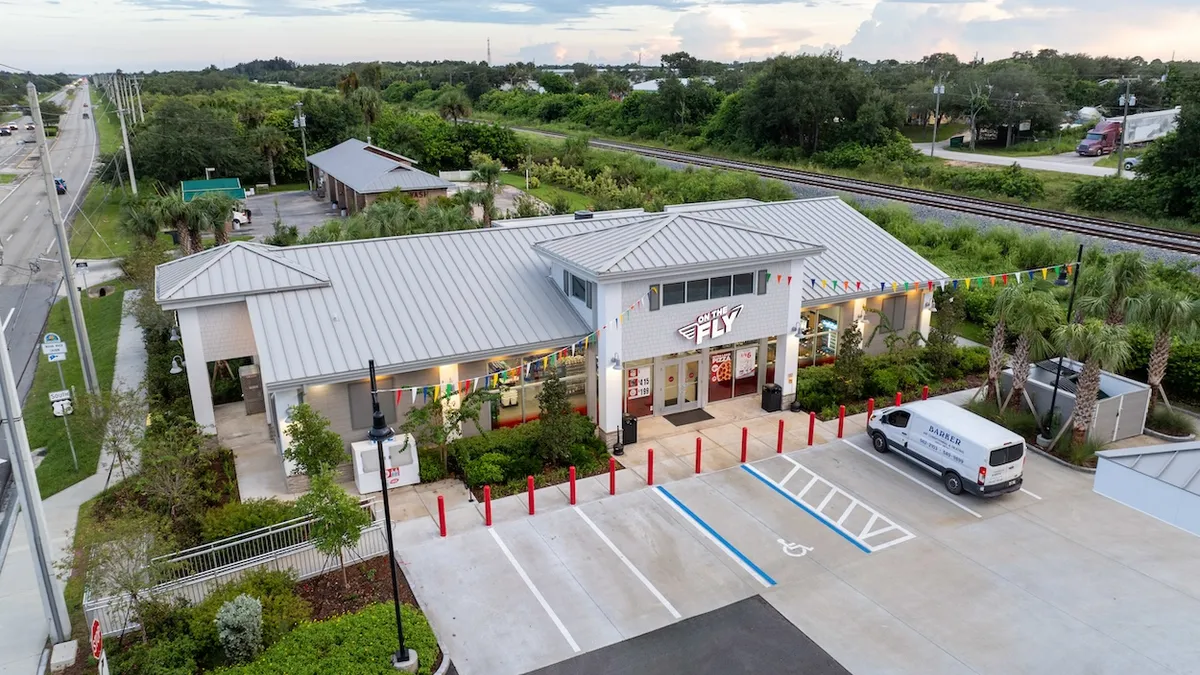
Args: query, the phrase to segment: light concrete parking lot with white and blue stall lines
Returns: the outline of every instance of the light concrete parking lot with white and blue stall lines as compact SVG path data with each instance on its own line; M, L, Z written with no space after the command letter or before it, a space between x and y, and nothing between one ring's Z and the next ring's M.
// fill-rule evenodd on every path
M636 653L755 596L851 673L1200 673L1200 538L1040 456L1025 490L989 501L863 435L653 488L622 473L616 496L581 482L576 507L544 489L534 516L499 500L491 528L464 504L444 539L397 525L460 673ZM754 650L722 645L728 665Z

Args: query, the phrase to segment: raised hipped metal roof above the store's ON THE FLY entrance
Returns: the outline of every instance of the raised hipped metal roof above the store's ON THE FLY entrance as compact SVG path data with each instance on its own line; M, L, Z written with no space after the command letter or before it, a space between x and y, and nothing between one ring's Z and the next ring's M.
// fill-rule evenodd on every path
M596 279L792 259L822 251L821 246L799 239L696 213L643 215L632 222L568 234L534 246Z

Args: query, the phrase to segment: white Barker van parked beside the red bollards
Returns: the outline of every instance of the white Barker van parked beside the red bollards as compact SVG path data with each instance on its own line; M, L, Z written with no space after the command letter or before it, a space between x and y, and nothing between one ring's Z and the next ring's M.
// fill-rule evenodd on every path
M1021 489L1025 440L946 401L881 408L866 420L877 452L898 450L942 477L952 495L992 497Z

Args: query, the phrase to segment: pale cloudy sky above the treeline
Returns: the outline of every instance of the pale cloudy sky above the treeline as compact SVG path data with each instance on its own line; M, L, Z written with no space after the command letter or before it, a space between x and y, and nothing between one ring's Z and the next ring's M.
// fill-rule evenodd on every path
M1200 59L1200 0L0 0L0 64L34 71L198 68L275 55L656 62L839 48L864 59L1052 47ZM1120 14L1120 18L1118 16Z

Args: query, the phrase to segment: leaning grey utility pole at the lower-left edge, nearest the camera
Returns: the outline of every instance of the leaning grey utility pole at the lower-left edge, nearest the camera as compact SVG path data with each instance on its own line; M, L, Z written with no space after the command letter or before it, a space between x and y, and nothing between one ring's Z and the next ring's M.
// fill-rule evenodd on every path
M25 420L20 410L20 398L17 394L17 378L12 374L8 340L5 338L4 330L0 330L0 380L4 381L0 382L0 414L5 419L5 441L8 444L8 459L12 460L12 474L17 483L19 506L25 512L25 532L29 536L29 551L34 556L37 590L42 596L42 609L46 613L50 639L54 644L65 643L71 639L71 619L67 615L67 604L62 598L62 591L54 579L50 532L46 525L46 513L42 510L37 473L34 471L34 456L29 452L29 436L25 435Z

